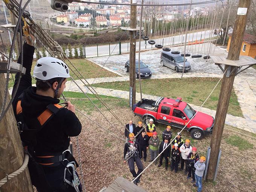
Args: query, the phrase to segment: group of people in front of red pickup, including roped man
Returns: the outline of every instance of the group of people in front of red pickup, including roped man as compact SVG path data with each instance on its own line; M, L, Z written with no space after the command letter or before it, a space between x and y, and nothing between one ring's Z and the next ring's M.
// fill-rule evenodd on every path
M206 158L199 157L197 148L190 146L189 139L184 142L181 133L177 133L177 137L172 141L171 146L171 126L167 126L166 130L162 132L162 142L160 142L153 122L153 119L149 120L149 123L146 124L146 131L142 122L138 122L138 126L136 126L130 120L129 124L126 125L125 137L127 142L124 149L124 162L128 161L133 177L136 178L143 171L141 159L143 158L143 161L146 162L147 149L149 149L149 162L154 161L157 155L160 154L158 167L163 165L163 158L165 158L165 169L168 170L168 165L170 165L171 171L174 170L175 173L178 172L178 165L180 164L179 171L184 170L187 179L192 178L193 186L198 187L197 191L201 192ZM138 167L137 173L134 169L134 162ZM154 161L154 164L157 165L157 160ZM134 184L139 182L140 177L134 181Z

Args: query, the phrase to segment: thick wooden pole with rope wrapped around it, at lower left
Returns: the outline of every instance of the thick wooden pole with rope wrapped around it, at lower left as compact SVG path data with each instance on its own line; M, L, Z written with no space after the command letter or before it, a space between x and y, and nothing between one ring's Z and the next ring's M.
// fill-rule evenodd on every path
M5 75L0 73L0 106L3 105L5 81ZM10 96L8 95L7 103L9 101ZM12 107L0 121L0 154L0 179L2 179L6 174L11 174L19 169L24 160L24 151ZM26 168L21 174L10 179L0 187L0 191L33 192L28 169Z

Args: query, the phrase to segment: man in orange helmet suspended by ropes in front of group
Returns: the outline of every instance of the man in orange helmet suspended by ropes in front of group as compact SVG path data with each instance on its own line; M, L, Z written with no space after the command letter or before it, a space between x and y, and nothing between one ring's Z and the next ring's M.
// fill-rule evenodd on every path
M129 134L129 141L125 143L125 148L123 150L123 159L124 163L128 162L130 172L133 174L133 177L136 178L142 171L143 171L143 165L140 160L140 145L138 142L134 142L134 133ZM136 173L134 168L134 162L136 162L138 172ZM141 175L140 175L141 177ZM140 183L140 177L138 177L134 184L137 185L137 183Z

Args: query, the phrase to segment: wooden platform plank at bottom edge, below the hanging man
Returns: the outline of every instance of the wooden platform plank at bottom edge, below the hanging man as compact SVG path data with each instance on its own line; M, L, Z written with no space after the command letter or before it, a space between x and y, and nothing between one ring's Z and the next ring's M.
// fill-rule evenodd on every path
M123 177L117 177L105 192L146 192L146 190Z

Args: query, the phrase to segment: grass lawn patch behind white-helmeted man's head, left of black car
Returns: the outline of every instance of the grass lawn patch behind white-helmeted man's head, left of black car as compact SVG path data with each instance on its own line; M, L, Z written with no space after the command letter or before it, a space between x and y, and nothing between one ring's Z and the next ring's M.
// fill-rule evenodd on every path
M70 61L76 67L76 69L82 74L82 76L84 76L85 79L119 76L116 73L112 73L106 69L101 68L100 66L94 64L91 61L88 61L87 59L70 59ZM36 60L33 61L31 75L33 75L33 69L35 67L36 62L37 62ZM72 67L72 65L69 62L66 62L66 63L78 75L78 72ZM70 76L72 76L72 78L74 79L78 79L78 77L75 76L75 74L71 70L70 70ZM81 76L79 77L82 78ZM14 78L15 78L15 74L13 74L13 78L10 75L9 88L13 87ZM68 79L68 80L71 80L71 79ZM32 84L35 84L35 79L33 78L32 78Z

